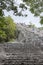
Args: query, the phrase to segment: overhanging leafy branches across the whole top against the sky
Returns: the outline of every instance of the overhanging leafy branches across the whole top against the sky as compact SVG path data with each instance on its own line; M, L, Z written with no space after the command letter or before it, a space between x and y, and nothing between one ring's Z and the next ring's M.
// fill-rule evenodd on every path
M43 0L22 0L23 3L20 3L20 5L17 5L15 0L0 0L0 11L6 9L7 11L13 10L15 15L23 16L22 11L24 9L28 9L27 6L30 6L30 11L34 13L35 16L40 16L40 14L43 12ZM26 3L26 5L24 4ZM18 8L21 8L20 11L18 11ZM41 18L42 19L42 18Z

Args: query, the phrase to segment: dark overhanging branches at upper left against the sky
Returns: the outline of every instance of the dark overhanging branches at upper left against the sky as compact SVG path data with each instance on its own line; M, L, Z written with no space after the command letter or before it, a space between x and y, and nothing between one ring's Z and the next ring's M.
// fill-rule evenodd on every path
M22 8L21 11L18 11L18 7ZM6 9L7 11L12 10L15 15L23 15L22 10L27 9L26 6L23 3L20 3L20 5L17 5L15 0L0 0L0 9L3 10Z

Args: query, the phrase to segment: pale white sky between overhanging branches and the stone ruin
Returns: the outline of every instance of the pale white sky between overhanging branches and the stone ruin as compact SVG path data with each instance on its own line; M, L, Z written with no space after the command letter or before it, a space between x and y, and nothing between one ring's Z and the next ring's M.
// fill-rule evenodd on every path
M17 3L22 3L22 1L17 0ZM31 22L31 23L35 24L37 27L41 26L41 24L39 23L39 21L40 21L39 17L34 17L34 14L32 14L29 10L27 10L23 13L27 13L28 16L27 17L14 16L13 11L10 11L10 12L7 12L6 10L4 11L5 16L10 15L13 18L14 22L16 22L16 23L25 23L26 25L28 25Z

